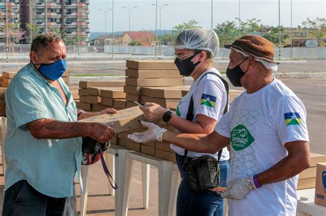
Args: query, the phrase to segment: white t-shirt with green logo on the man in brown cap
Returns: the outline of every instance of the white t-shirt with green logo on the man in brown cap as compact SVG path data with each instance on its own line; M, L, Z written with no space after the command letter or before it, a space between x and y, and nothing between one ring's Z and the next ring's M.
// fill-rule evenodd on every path
M285 143L308 141L302 101L280 80L239 95L215 127L231 138L228 182L269 169L287 156ZM243 200L228 200L228 215L296 215L298 176L265 184Z

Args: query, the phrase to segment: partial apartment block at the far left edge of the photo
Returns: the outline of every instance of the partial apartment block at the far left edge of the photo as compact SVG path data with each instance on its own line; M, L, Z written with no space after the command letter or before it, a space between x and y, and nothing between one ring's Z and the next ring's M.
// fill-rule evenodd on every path
M6 43L6 18L8 25L19 23L19 10L19 0L0 0L0 43Z

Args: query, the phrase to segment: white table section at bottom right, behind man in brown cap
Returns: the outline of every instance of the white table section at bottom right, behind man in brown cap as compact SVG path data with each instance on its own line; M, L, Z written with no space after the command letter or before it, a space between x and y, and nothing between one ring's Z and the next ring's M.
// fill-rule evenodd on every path
M326 207L314 203L315 189L304 189L296 192L298 204L296 206L297 216L323 216L326 215Z

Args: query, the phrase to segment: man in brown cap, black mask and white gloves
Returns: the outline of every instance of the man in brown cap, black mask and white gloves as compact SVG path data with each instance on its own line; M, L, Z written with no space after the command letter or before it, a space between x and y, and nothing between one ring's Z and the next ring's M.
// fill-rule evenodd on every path
M302 101L283 82L272 43L261 36L235 40L226 74L246 91L232 102L215 132L177 134L153 123L129 135L145 142L166 141L196 152L215 153L231 143L227 189L229 215L295 215L298 173L309 167L309 137Z

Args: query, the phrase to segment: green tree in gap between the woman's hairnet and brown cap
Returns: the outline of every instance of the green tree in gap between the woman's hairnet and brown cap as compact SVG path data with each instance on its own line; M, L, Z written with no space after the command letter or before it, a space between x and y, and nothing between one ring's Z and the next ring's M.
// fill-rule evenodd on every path
M224 47L226 44L231 44L239 37L239 29L235 21L226 21L217 23L214 31L219 36L219 46Z

